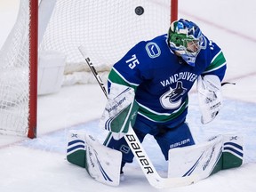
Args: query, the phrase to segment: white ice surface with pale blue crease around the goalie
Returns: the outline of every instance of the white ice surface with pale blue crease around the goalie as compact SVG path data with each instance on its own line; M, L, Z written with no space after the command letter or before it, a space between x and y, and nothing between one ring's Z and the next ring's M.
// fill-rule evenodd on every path
M14 23L17 4L19 0L0 0L0 47ZM208 125L200 124L196 94L192 91L188 124L197 142L215 134L243 134L244 164L187 187L161 191L256 190L255 5L254 0L179 1L179 17L194 20L206 36L220 44L228 60L225 81L236 83L223 87L225 106L220 116ZM92 180L84 169L67 162L65 153L70 129L86 130L104 140L98 119L105 101L98 84L66 86L58 93L38 97L37 139L0 136L0 191L160 191L148 184L136 162L127 164L124 182L114 188ZM166 162L155 141L148 137L143 145L156 169L164 172Z

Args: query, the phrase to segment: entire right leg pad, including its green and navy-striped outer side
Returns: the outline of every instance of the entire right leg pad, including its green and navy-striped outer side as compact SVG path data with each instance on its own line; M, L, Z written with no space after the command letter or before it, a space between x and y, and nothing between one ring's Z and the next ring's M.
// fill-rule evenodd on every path
M197 175L199 180L243 163L243 137L218 135L194 146L169 150L168 177Z

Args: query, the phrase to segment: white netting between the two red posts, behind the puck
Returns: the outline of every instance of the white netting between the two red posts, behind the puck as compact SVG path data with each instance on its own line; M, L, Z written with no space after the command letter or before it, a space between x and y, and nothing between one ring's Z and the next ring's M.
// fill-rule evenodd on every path
M44 36L41 35L43 38L42 41L40 39L39 48L67 55L65 74L68 76L64 84L91 83L93 77L84 73L89 68L78 51L78 46L86 48L96 69L105 72L100 74L104 78L108 76L109 68L132 45L167 32L170 25L170 2L57 0L45 32L40 31ZM144 8L142 15L135 13L137 6Z

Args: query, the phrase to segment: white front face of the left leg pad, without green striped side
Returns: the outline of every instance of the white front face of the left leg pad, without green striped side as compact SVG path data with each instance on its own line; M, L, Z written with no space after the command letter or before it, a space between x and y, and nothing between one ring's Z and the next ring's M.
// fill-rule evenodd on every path
M100 144L92 135L86 135L86 164L85 169L94 180L101 183L118 186L122 153Z

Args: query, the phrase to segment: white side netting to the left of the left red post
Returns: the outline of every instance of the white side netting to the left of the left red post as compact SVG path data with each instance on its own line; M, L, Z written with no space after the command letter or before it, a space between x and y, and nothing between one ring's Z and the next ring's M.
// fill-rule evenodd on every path
M17 22L0 51L0 133L28 132L28 7L20 1Z

